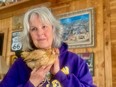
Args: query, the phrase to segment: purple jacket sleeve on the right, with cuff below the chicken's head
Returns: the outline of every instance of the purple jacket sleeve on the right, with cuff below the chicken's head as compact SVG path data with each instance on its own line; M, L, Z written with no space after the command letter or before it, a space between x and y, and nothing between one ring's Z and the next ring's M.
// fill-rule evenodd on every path
M96 87L93 85L92 76L86 63L82 63L78 70L78 75L74 73L66 75L59 71L54 77L62 87Z

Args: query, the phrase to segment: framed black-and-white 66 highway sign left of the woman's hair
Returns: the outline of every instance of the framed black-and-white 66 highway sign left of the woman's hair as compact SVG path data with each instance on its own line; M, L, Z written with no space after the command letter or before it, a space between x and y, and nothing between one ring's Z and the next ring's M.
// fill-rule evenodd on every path
M11 51L15 52L22 49L22 43L20 41L20 33L21 31L15 31L12 33Z

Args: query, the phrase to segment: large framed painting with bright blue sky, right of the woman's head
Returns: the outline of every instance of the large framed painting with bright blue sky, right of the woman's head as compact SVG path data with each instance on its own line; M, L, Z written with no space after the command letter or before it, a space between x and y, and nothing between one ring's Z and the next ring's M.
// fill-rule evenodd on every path
M63 40L69 48L94 46L94 9L68 12L58 15L64 27Z

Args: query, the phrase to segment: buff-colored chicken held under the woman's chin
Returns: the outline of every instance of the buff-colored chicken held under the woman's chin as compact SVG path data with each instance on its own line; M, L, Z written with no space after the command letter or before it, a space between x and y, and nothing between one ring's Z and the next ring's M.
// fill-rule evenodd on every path
M39 68L41 66L48 66L54 63L58 57L58 49L37 49L31 52L22 52L21 56L24 61L31 68Z

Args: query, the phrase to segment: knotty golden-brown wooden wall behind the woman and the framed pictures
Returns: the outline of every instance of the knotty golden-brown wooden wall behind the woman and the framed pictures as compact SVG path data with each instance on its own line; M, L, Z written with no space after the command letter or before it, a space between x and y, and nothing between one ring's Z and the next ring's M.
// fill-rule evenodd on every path
M113 16L109 16L109 9L114 9L115 5L113 5L112 8L108 8L107 6L112 5L112 3L116 3L115 0L112 0L110 4L109 0L48 0L51 2L50 8L53 10L55 15L59 15L65 12L75 11L75 10L81 10L89 7L94 7L95 10L95 46L94 47L88 47L88 48L75 48L75 49L69 49L70 51L73 51L75 53L83 53L83 52L94 52L94 83L97 85L97 87L115 87L112 86L112 75L115 75L112 73L112 61L111 61L111 46L112 51L115 52L114 48L116 48L116 38L114 37L114 31L115 31L115 12L111 10ZM36 4L37 6L37 4ZM18 10L14 10L13 12L9 12L10 16L2 15L0 20L0 32L4 29L7 32L7 39L5 39L7 43L4 48L6 49L6 52L4 52L3 55L6 55L7 63L10 61L9 55L11 55L10 52L10 45L11 45L11 32L12 32L12 15L18 15L21 13L24 13L29 7L23 7ZM115 9L116 10L116 9ZM106 12L106 14L104 14ZM7 18L4 18L6 16ZM110 35L110 18L112 19L111 22L111 35ZM7 26L6 26L7 25ZM5 34L6 34L5 32ZM110 37L111 36L111 37ZM111 39L110 39L111 38ZM112 43L111 43L112 42ZM114 44L115 43L115 44ZM113 60L115 60L115 53L112 53ZM113 61L113 67L116 64ZM116 71L115 68L113 68ZM116 75L115 75L116 76ZM113 83L115 82L116 78L113 78Z

